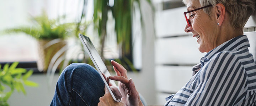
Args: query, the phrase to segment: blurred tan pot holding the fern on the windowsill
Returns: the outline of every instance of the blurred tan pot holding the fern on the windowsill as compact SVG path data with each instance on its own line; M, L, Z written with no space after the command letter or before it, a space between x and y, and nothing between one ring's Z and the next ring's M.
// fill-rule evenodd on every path
M38 42L38 55L39 58L37 60L37 67L39 71L46 72L50 61L53 56L66 45L64 40L60 40L60 42L55 43L53 45L47 46L47 43L52 40L37 40ZM63 56L65 53L62 53L59 57ZM59 66L58 66L59 69Z

